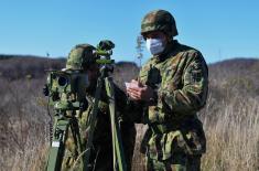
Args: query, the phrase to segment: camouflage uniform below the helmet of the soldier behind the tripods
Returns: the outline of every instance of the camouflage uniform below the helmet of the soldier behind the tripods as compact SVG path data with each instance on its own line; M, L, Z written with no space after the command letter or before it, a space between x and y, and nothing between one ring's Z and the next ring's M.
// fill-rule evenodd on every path
M102 90L105 92L105 89ZM123 143L123 151L126 157L126 162L128 170L131 169L131 160L133 156L134 139L136 139L136 128L133 122L123 119L126 115L126 95L115 85L115 97L117 103L118 115L120 116L120 128L121 138ZM77 113L80 137L83 139L83 145L86 145L87 140L87 128L86 120L88 114L91 111L94 106L94 93L87 95L89 106L87 110ZM101 95L101 100L99 101L99 111L97 114L97 124L94 132L93 149L90 156L90 167L95 171L111 171L112 170L112 143L111 143L111 126L109 118L109 106L107 104L108 99L105 94ZM68 170L82 170L78 157L78 149L72 138L72 132L69 130L68 139L66 140L65 157L63 160L63 171ZM77 161L77 162L76 162Z

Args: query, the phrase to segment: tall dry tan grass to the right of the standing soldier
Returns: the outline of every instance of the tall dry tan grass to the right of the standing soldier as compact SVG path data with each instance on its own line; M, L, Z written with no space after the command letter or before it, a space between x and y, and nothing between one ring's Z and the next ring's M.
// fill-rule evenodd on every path
M234 95L229 104L218 101L222 109L211 113L214 108L212 100L208 100L203 111L206 115L202 118L207 137L203 170L259 170L258 100Z

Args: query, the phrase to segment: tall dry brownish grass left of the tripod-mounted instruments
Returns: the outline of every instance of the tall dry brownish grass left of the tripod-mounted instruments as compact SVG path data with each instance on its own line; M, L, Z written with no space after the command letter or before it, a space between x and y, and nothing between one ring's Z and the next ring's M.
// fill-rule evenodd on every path
M41 170L50 137L42 81L0 81L0 170Z

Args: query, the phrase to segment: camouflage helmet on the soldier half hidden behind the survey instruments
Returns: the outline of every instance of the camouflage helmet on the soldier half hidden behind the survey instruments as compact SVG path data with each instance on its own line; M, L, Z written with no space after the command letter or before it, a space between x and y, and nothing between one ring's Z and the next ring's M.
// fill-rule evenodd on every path
M90 44L77 44L69 52L66 61L66 68L86 70L90 64L95 63L96 55L94 54L95 46Z

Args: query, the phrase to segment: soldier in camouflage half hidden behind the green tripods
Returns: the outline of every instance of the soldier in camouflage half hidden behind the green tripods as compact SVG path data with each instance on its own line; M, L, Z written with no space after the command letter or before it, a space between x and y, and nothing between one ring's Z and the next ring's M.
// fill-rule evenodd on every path
M87 88L86 100L88 101L88 107L83 111L77 111L77 118L79 124L79 132L83 140L83 145L86 145L87 140L87 128L86 120L88 114L94 107L95 90L97 84L97 77L99 75L99 66L95 63L95 57L93 54L94 46L89 44L78 44L69 53L67 58L66 68L72 70L84 70L88 75L90 82L89 88ZM104 86L102 86L104 87ZM134 124L127 120L125 116L125 109L127 105L127 96L125 93L115 87L115 98L116 105L120 116L120 128L122 137L122 146L126 157L126 162L128 170L131 167L131 159L134 148L136 128ZM112 140L111 140L111 126L109 118L109 105L106 90L101 92L101 97L99 101L99 109L97 114L97 124L94 131L93 149L90 153L90 165L91 170L95 171L111 171L112 170ZM123 111L123 113L122 113ZM82 170L79 163L75 163L78 158L78 149L76 148L72 132L68 132L68 139L66 140L65 157L62 163L62 170ZM79 160L77 160L79 161Z

